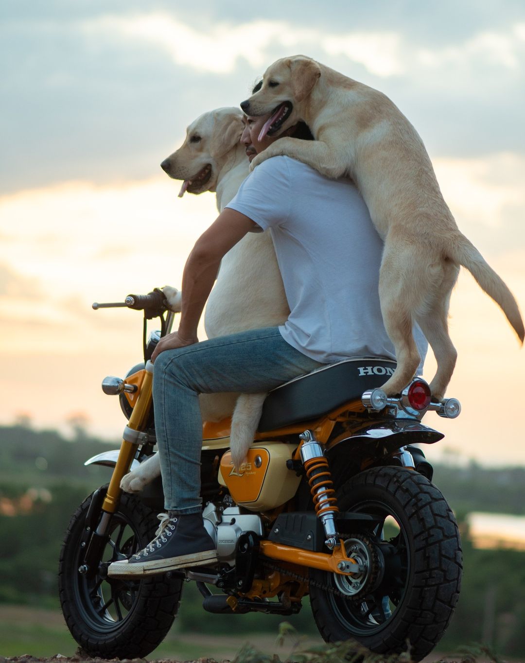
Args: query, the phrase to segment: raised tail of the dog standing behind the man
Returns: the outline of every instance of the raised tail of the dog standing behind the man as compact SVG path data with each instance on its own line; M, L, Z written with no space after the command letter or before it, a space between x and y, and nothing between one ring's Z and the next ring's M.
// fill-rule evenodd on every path
M466 267L477 280L479 286L498 304L507 317L508 322L518 334L523 343L525 331L518 304L505 282L496 272L487 265L485 259L476 247L465 237L458 233L449 247L449 255L459 265Z

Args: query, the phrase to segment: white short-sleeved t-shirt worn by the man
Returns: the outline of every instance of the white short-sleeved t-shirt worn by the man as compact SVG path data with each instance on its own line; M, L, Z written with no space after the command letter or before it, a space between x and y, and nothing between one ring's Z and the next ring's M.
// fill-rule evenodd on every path
M349 180L329 180L288 156L274 156L227 205L270 229L290 316L285 341L317 361L395 359L379 306L382 241ZM422 361L427 342L414 336Z

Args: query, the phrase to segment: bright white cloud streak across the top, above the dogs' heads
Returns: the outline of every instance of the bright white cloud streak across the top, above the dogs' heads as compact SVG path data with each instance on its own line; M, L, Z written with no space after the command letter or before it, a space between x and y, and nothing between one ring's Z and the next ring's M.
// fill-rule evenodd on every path
M418 42L404 39L400 30L329 31L261 19L246 23L223 21L212 28L195 29L159 11L98 17L82 24L82 30L139 38L162 48L178 66L223 76L234 72L239 60L265 69L276 49L282 55L292 55L298 47L317 54L320 60L323 54L344 56L379 77L408 74L414 66L436 70L458 63L477 68L481 62L518 70L525 55L525 23L500 31L483 30L463 42L434 48L423 48Z

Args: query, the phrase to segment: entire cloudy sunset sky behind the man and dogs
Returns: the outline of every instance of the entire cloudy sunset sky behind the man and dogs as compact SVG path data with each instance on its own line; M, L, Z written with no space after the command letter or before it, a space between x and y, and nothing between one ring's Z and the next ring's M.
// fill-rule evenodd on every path
M212 194L178 199L160 162L201 113L237 105L306 54L386 93L420 133L459 228L525 310L525 5L333 0L3 0L0 5L0 423L125 424L105 375L141 359L141 315L93 311L180 286ZM428 457L525 465L520 348L461 272L445 433ZM425 377L432 378L432 357Z

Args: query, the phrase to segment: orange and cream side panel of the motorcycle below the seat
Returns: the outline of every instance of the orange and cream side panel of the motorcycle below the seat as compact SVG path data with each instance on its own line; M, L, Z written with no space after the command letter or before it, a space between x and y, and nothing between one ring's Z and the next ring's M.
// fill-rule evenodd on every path
M257 442L239 469L228 451L221 457L219 483L227 487L237 505L250 511L280 507L294 497L301 480L286 467L294 448L284 442Z

